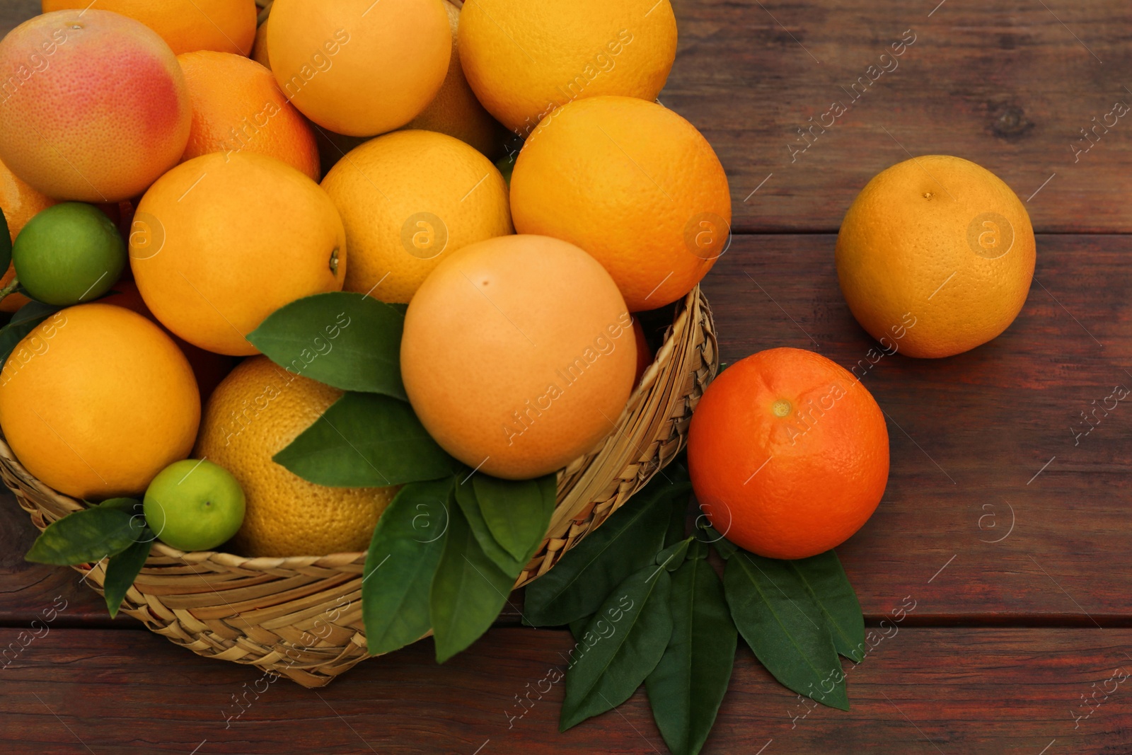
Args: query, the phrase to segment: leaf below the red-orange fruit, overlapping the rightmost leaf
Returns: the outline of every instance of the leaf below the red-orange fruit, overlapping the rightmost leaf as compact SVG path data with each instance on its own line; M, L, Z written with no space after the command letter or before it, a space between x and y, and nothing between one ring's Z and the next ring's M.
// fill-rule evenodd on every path
M775 679L820 703L849 710L830 629L788 561L737 550L723 569L723 586L735 625Z

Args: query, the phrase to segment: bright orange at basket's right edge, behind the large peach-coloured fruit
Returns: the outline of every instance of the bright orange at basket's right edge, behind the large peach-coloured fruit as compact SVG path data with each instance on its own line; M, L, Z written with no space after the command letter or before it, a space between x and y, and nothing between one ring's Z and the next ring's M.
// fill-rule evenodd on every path
M727 249L731 197L707 140L671 110L590 97L548 115L511 177L518 233L582 247L629 311L676 301Z

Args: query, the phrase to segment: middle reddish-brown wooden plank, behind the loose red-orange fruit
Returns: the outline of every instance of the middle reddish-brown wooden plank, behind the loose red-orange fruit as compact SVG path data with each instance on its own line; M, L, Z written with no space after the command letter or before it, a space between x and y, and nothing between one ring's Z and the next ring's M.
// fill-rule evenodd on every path
M1070 431L1114 386L1132 388L1132 238L1040 237L1040 283L1005 334L951 359L875 366L838 289L834 240L736 237L704 286L723 361L814 349L855 369L889 414L884 500L839 549L866 614L912 594L914 623L1132 625L1132 410L1118 404L1078 445ZM26 625L60 592L76 617L105 623L69 570L22 563L33 532L12 509L0 509L0 541L22 533L0 549L0 623Z

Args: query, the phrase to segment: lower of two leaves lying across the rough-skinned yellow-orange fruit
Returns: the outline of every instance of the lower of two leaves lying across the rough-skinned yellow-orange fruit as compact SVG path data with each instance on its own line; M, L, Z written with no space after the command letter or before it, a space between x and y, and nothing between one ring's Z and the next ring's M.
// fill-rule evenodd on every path
M346 393L273 461L332 488L374 488L447 477L460 464L406 402Z

